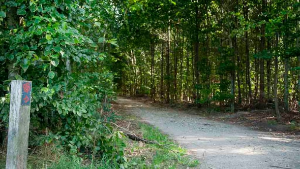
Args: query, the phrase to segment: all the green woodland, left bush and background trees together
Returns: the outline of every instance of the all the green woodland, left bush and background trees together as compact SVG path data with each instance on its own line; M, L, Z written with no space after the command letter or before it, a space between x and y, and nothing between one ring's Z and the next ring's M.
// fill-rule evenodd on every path
M30 145L120 164L103 125L117 94L280 121L298 111L299 70L299 0L0 0L0 144L15 79L32 81Z

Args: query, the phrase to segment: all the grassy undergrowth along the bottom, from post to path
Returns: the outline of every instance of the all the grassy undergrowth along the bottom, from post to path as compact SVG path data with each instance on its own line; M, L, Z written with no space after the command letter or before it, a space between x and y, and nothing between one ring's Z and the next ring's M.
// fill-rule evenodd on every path
M149 140L166 145L169 149L157 144L144 144L128 138L124 141L127 148L123 164L113 163L108 156L101 158L84 155L72 155L65 152L59 142L36 146L29 149L27 169L186 169L199 165L199 161L184 155L186 150L180 147L157 128L140 123L139 132ZM171 150L173 151L171 151ZM128 160L127 160L128 158ZM5 153L0 152L0 169L5 168Z

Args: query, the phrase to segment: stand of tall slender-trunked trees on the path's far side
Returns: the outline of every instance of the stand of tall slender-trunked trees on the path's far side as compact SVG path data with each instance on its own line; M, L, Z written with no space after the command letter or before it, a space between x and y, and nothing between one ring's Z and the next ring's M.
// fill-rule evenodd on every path
M118 9L123 94L232 112L298 109L299 1L141 0Z

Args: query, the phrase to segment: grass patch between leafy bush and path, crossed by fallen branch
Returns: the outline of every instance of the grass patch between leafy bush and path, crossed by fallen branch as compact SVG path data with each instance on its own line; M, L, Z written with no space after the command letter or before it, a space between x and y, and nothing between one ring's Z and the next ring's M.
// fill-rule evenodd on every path
M139 127L144 138L167 145L168 148L179 153L156 144L134 142L130 151L133 154L134 152L139 154L131 157L130 166L132 169L186 169L199 165L198 160L184 155L186 150L170 140L167 135L162 134L157 128L144 123L140 123Z

